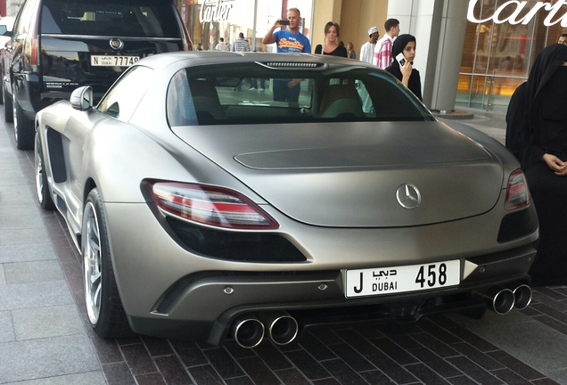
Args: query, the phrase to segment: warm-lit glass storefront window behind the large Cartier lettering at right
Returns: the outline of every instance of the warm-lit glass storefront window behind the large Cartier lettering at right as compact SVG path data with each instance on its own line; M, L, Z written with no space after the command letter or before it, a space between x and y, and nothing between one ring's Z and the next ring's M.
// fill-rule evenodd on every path
M561 22L567 6L563 5L550 19L545 7L533 12L542 2L472 3L474 17L482 22L467 21L456 106L506 111L514 90L528 78L538 53L546 45L557 43L566 31ZM522 3L526 6L517 12Z

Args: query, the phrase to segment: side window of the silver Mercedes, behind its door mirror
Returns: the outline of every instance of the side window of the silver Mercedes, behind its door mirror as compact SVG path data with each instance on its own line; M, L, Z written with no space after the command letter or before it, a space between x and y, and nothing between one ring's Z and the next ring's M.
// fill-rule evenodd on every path
M97 110L121 121L128 121L150 86L153 70L134 66L122 75L104 95Z

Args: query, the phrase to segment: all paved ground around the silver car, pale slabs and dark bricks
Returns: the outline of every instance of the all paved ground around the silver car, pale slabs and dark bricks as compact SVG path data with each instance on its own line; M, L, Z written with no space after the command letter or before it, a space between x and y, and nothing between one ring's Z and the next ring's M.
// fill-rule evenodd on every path
M474 112L460 122L504 137L502 114ZM563 286L536 288L522 312L438 316L409 332L324 328L281 348L101 340L86 324L78 252L34 188L33 152L0 123L0 384L567 384Z

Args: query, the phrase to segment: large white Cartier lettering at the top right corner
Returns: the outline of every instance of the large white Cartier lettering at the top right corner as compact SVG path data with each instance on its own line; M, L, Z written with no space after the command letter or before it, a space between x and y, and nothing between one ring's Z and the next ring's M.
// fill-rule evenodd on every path
M557 23L561 23L563 28L567 27L567 13L563 10L561 13L563 5L567 4L565 0L557 0L554 2L533 2L533 1L507 1L501 4L494 12L492 16L487 19L477 19L474 15L474 6L479 2L479 0L469 0L469 10L466 18L473 23L484 23L487 21L494 21L496 24L510 23L510 24L528 24L538 12L544 11L548 12L546 20L544 20L544 25L546 27L551 27ZM533 4L531 8L526 8L528 4ZM525 9L525 10L524 10ZM506 11L506 12L505 12ZM527 12L526 12L527 11ZM505 12L507 16L503 16L502 13ZM510 13L512 12L512 13Z

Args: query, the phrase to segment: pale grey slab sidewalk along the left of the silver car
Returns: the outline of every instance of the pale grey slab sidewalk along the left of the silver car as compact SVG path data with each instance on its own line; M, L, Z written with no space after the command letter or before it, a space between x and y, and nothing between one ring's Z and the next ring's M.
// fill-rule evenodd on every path
M105 384L68 283L78 261L55 253L61 224L31 193L29 152L0 127L0 383Z

